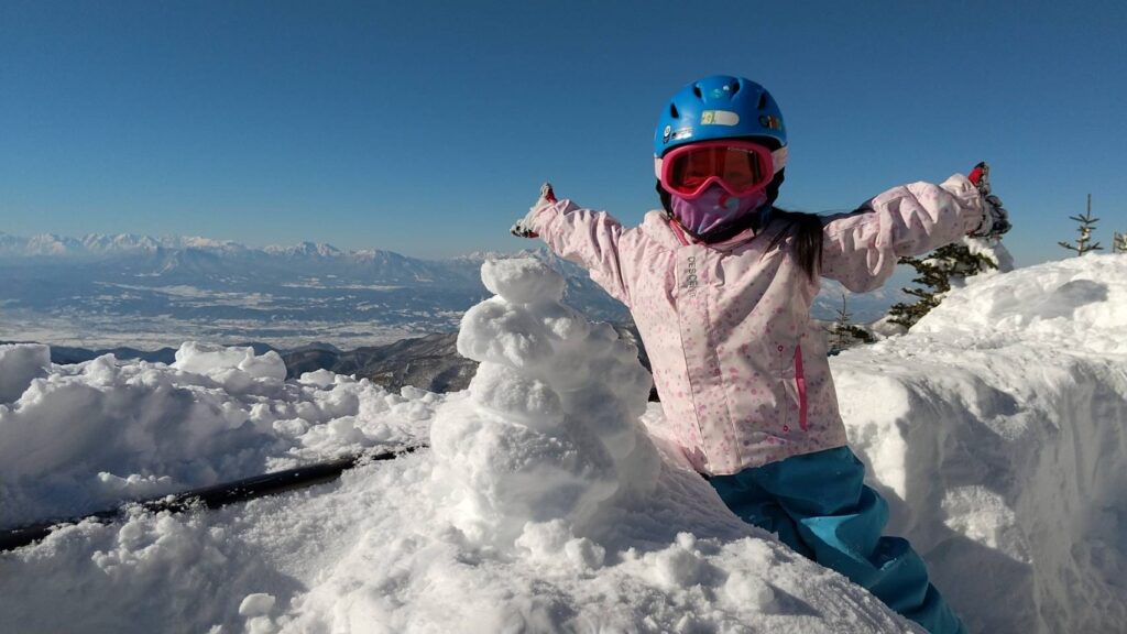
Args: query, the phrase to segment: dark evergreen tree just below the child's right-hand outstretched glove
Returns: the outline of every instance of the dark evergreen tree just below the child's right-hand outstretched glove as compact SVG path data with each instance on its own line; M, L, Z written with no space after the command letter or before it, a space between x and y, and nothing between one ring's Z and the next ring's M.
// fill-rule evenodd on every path
M997 263L980 253L971 253L965 243L952 243L940 247L926 256L902 257L899 264L907 264L916 271L913 283L923 288L904 289L919 298L914 303L899 302L889 309L889 322L911 328L932 308L939 306L943 296L951 290L951 282L970 275L997 268Z

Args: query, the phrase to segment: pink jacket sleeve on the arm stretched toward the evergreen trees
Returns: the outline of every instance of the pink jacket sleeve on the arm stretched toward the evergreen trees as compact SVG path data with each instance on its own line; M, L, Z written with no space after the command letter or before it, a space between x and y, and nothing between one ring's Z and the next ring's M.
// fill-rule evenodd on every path
M982 221L982 195L960 174L942 185L894 187L853 213L824 220L822 276L853 292L871 291L888 280L900 257L953 243Z

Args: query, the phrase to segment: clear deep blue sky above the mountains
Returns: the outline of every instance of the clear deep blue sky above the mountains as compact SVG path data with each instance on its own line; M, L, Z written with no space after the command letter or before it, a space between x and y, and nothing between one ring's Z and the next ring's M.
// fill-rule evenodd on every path
M511 250L544 179L633 224L658 111L725 72L782 107L780 205L986 159L1057 259L1089 193L1127 231L1125 7L3 0L0 231Z

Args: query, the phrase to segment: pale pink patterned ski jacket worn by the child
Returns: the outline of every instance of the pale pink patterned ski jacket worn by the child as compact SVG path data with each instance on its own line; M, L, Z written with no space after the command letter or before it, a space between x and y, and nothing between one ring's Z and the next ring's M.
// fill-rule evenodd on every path
M895 187L823 219L820 274L851 291L876 289L898 257L957 240L982 219L978 191L961 175ZM734 474L846 443L824 337L810 324L820 283L802 272L790 238L767 250L780 222L703 245L663 211L623 229L561 200L534 223L630 308L665 416L699 472Z

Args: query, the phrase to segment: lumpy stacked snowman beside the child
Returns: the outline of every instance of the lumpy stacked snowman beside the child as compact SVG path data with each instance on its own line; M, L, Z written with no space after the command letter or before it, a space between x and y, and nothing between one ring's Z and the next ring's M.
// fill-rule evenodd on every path
M504 547L527 522L586 534L603 502L653 490L638 422L653 380L633 344L559 303L564 278L539 259L486 262L481 278L499 294L462 319L458 350L480 362L469 398L431 428L453 523Z

